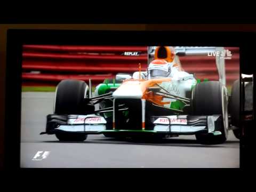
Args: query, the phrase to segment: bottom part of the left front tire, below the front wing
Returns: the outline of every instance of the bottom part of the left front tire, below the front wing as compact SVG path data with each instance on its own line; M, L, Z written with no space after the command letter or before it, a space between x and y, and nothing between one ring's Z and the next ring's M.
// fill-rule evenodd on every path
M87 138L87 134L84 133L70 133L70 132L59 132L55 133L55 136L60 141L84 141Z

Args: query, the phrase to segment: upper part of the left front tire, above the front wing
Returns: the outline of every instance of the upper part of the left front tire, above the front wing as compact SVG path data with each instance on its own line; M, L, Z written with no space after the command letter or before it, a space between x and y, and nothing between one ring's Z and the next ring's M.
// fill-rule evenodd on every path
M88 110L93 113L94 106L86 107L84 103L84 98L88 95L89 89L85 82L62 80L55 92L54 114L83 115L85 112L88 114Z

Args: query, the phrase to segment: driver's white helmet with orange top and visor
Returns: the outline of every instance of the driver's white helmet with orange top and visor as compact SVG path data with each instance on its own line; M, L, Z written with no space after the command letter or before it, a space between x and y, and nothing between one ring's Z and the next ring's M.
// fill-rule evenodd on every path
M164 59L155 59L149 63L148 77L149 78L161 78L169 77L171 75L171 65Z

